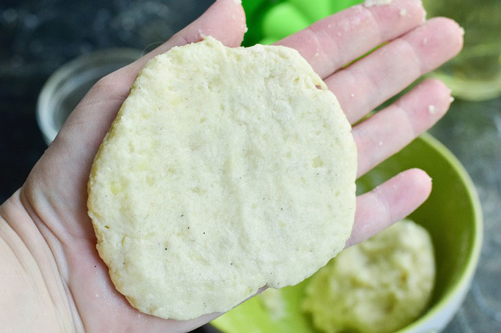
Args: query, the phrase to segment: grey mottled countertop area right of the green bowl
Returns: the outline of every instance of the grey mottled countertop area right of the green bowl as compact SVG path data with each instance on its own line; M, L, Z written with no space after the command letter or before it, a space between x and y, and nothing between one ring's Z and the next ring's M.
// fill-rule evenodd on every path
M430 133L463 163L484 214L484 243L474 282L444 332L501 332L501 97L456 100Z

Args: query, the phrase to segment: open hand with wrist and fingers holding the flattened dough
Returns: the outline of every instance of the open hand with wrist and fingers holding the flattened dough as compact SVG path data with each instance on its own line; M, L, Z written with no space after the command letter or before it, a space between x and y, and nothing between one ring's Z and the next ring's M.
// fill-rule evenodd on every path
M277 44L297 49L312 64L353 124L461 50L462 29L454 21L426 21L425 15L419 0L357 5ZM165 44L101 79L78 104L23 187L0 206L4 332L183 332L220 315L173 321L128 304L95 249L86 208L87 180L104 135L148 59L196 42L201 34L237 47L245 29L240 1L218 0ZM382 43L369 56L345 66ZM430 105L434 112L429 112ZM353 136L358 176L426 131L449 106L450 90L436 79L426 79L357 123ZM347 246L406 217L426 200L431 186L426 173L411 169L360 195Z

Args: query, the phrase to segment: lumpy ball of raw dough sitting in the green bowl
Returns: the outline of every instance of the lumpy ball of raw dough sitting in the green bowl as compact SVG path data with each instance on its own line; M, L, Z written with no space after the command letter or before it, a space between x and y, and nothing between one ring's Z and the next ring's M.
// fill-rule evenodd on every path
M430 235L403 220L318 271L303 308L323 332L395 332L426 309L434 281Z

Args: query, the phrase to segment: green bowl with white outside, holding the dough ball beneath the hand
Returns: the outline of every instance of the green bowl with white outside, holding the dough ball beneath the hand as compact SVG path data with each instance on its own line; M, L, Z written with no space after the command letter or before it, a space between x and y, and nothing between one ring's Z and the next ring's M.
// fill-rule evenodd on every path
M430 198L410 219L432 236L436 256L436 284L432 300L419 319L399 332L438 332L450 321L469 290L482 244L482 213L475 186L461 163L430 134L364 175L357 190L364 193L400 171L421 168L433 179ZM226 333L314 333L311 318L301 311L310 279L281 289L287 315L274 319L259 296L212 321Z

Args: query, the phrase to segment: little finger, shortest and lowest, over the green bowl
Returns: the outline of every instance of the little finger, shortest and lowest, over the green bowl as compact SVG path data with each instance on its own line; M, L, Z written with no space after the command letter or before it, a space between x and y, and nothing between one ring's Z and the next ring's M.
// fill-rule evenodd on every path
M432 180L420 169L399 173L371 192L357 197L355 224L346 247L371 238L404 219L428 198Z

